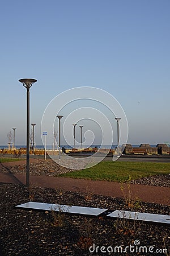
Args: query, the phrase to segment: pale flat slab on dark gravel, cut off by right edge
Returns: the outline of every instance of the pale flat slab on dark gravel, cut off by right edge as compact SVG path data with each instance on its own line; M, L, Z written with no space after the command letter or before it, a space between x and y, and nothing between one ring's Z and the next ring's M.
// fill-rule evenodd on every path
M128 210L115 210L107 215L114 218L128 218L130 220L141 220L170 224L170 216L163 214L152 214L142 212L129 212Z

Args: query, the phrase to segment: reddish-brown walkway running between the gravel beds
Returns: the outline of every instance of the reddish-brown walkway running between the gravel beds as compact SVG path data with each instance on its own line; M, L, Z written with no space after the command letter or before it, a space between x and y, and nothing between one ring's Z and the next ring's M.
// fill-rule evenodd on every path
M35 162L32 159L31 162ZM25 163L25 160L22 161ZM3 166L22 164L19 162L3 163ZM25 176L0 172L1 183L25 184ZM123 197L121 184L111 181L72 179L69 177L30 176L30 185L39 187L57 188L66 191L92 192L96 195ZM155 187L149 185L131 184L132 198L138 197L142 201L170 205L170 188ZM127 185L124 184L124 191L128 195Z

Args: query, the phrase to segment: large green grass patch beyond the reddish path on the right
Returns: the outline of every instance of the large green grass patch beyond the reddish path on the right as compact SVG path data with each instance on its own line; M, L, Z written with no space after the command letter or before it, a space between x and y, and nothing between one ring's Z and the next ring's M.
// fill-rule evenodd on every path
M124 182L139 179L150 175L169 174L170 163L148 162L100 162L88 169L78 170L62 174L62 177L78 179L108 180Z

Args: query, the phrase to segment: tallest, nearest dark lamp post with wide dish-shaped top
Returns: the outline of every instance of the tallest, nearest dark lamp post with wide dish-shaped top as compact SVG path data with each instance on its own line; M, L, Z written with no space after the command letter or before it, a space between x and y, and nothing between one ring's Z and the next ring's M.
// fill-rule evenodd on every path
M29 89L36 79L20 79L23 86L27 89L27 173L26 173L26 184L29 187Z

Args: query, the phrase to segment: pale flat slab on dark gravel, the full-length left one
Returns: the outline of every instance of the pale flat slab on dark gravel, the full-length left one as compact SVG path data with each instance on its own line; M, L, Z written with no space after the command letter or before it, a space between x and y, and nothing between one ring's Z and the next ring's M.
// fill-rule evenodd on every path
M85 214L85 215L93 215L98 216L99 214L105 212L107 209L101 208L91 208L91 207L78 207L78 206L69 206L62 204L45 204L45 203L37 203L37 202L28 202L25 204L16 205L19 208L25 209L36 209L36 210L54 210L56 212L67 212L67 213L75 213L75 214Z

